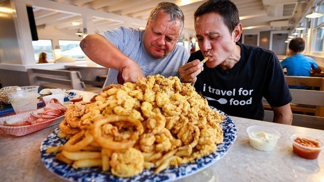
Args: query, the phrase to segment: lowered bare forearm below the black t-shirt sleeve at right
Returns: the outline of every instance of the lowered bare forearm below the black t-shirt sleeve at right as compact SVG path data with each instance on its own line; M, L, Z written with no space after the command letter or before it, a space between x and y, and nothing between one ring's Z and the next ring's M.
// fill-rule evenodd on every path
M271 107L273 110L273 121L275 123L292 125L293 113L290 108L290 103L281 107Z

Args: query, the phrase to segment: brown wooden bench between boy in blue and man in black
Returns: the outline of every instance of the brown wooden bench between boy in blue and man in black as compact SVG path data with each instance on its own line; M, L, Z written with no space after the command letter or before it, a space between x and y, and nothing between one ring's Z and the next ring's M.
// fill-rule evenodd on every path
M324 91L324 78L321 77L286 76L286 81L289 85L311 86L312 89L316 88L317 90ZM270 105L264 98L262 102L265 109L271 109ZM294 113L324 117L324 107L292 102L291 108Z

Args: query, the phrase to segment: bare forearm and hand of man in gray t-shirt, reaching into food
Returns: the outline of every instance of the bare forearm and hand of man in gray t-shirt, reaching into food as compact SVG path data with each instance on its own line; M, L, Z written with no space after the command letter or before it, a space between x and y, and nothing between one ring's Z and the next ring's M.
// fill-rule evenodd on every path
M145 77L138 64L118 50L105 37L98 34L86 36L81 42L82 51L94 62L106 68L123 72L125 82L136 82Z

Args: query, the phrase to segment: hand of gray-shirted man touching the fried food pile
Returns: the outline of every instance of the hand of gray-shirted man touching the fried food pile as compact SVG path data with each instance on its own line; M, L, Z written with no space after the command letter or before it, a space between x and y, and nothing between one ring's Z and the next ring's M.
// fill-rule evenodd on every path
M138 77L139 78L145 77L141 68L134 61L132 61L131 64L124 66L121 69L121 72L123 72L123 79L125 80L125 82L135 83Z

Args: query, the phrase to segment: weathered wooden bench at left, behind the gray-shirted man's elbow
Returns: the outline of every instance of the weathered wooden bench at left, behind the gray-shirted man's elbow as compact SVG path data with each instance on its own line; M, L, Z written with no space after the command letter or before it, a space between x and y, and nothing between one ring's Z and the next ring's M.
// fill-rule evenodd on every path
M86 92L99 93L101 87L86 86L78 71L28 69L30 85L39 85L41 88L77 89Z

